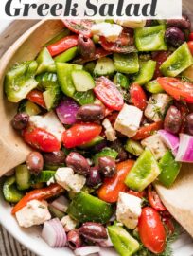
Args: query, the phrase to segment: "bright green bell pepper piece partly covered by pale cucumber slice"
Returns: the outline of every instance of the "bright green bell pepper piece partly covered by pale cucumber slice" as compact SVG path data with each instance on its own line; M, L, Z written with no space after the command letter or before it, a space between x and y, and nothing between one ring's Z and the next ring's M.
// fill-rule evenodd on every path
M82 70L83 66L78 64L62 64L56 63L58 82L61 86L61 91L69 96L73 97L76 92L75 85L72 81L72 71Z

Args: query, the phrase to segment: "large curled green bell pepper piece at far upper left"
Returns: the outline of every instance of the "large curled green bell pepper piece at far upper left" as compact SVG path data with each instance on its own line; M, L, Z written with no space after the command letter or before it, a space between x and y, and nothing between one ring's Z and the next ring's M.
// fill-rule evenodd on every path
M34 79L38 64L36 61L24 62L14 65L5 78L5 92L10 102L19 102L37 87Z

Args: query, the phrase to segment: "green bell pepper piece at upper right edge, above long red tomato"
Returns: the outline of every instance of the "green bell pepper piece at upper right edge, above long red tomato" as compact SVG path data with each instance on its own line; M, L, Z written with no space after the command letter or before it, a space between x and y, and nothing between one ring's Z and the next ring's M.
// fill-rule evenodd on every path
M166 77L176 77L192 64L192 54L187 43L184 43L167 58L160 70Z

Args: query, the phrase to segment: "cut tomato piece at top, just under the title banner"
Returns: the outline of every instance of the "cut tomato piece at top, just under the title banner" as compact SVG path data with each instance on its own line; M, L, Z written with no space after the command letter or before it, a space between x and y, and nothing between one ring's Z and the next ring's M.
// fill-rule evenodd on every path
M93 20L62 20L65 27L71 30L74 33L82 34L87 37L91 37L91 27L94 24Z

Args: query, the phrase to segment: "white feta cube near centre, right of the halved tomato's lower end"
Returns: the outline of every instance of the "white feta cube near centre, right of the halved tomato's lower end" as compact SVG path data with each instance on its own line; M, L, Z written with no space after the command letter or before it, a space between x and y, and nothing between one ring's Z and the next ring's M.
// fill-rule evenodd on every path
M133 137L139 128L142 116L143 112L139 108L124 104L115 120L114 129L127 137Z

